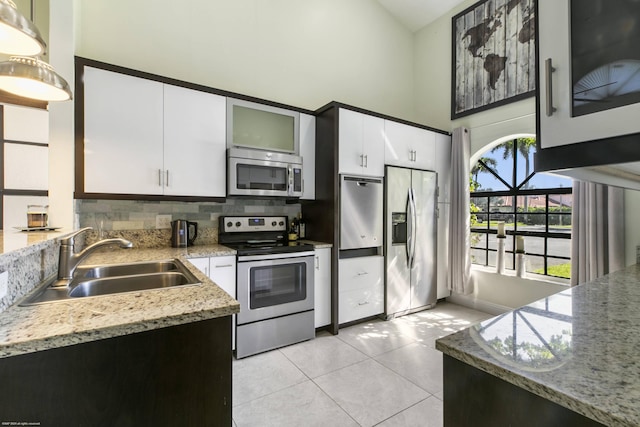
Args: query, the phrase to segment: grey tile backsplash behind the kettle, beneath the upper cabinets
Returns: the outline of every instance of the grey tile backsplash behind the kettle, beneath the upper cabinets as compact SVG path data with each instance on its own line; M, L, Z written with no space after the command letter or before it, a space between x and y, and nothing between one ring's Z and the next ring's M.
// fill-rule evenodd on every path
M223 215L284 215L293 218L300 204L284 200L228 199L215 202L153 202L139 200L76 200L77 227L93 227L94 238L129 235L145 231L164 241L169 230L156 229L157 215L171 215L172 220L186 219L198 223L199 244L217 243L218 218Z

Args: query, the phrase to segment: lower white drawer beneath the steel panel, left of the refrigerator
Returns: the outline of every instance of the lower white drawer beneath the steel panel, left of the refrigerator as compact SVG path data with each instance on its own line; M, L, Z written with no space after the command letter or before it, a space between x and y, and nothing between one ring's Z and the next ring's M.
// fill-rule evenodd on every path
M365 289L340 292L338 299L339 323L375 316L384 311L384 287L382 284Z

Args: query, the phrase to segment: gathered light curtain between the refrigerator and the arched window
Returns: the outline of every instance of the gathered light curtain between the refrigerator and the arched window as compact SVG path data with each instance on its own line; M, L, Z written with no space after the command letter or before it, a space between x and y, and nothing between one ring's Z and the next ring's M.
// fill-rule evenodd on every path
M469 214L469 130L453 130L451 147L451 206L449 210L449 275L448 286L453 292L470 294L471 218Z

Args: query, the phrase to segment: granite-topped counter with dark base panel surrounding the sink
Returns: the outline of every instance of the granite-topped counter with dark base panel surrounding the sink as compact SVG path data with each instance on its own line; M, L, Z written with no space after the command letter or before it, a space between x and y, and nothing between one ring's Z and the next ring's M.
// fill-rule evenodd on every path
M22 293L15 282L48 275L57 259L55 237L33 239L1 255L11 261L10 291ZM20 262L40 253L42 269ZM233 253L220 245L107 247L86 263L177 258L201 283L27 307L13 301L0 313L0 422L231 425L231 315L239 304L189 258Z

